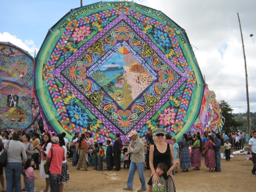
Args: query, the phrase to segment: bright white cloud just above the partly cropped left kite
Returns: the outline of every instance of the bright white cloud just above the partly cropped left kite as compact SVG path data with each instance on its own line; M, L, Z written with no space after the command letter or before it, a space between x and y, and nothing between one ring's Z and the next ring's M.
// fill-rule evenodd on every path
M18 39L16 36L13 36L7 32L4 32L3 34L0 33L0 41L1 42L10 42L21 49L24 49L25 51L28 51L30 55L33 57L35 56L35 50L36 54L39 51L39 48L36 47L33 40L25 40L22 41L21 39Z

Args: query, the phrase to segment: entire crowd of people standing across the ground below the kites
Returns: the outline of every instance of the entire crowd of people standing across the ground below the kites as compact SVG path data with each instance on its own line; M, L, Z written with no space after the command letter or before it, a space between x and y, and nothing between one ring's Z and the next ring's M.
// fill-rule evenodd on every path
M236 137L233 137L236 135ZM124 154L124 169L129 169L127 186L123 190L133 190L133 178L138 171L141 188L137 191L170 191L175 192L173 175L180 172L200 170L201 159L209 168L206 172L221 172L220 146L225 148L226 161L230 161L230 149L243 148L245 141L244 132L238 130L234 133L225 132L200 134L189 132L183 134L178 143L175 137L165 133L164 129L155 130L155 137L148 133L144 142L138 137L136 131L128 135L130 143L124 144L120 134L116 133L115 141L107 140L106 151L102 142L94 142L90 131L80 133L76 130L71 141L65 138L66 134L52 136L43 133L33 134L15 130L12 136L5 131L0 137L0 151L8 151L7 164L4 167L7 186L4 185L3 165L0 164L0 183L2 191L34 191L34 170L40 169L39 177L45 180L45 188L41 192L63 191L64 184L69 181L69 169L66 160L67 152L71 153L72 166L77 170L88 171L88 166L93 170L103 171L103 158L106 156L107 168L105 171L120 171L121 153ZM32 139L33 138L33 139ZM256 130L250 133L249 150L252 154L252 174L256 174ZM246 141L245 141L246 142ZM237 144L238 143L238 144ZM241 145L239 144L241 143ZM191 149L190 149L191 148ZM0 153L0 154L1 154ZM41 160L41 163L40 163ZM49 174L45 173L44 165L51 162ZM40 166L39 166L40 163ZM115 168L114 168L115 167ZM144 170L150 169L151 173L146 186ZM21 174L23 175L24 188L21 188Z

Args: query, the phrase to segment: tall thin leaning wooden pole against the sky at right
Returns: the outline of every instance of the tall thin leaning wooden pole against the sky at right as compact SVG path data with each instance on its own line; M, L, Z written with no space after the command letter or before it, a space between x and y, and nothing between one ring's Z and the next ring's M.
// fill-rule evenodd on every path
M239 27L240 27L240 33L241 33L241 39L242 39L242 47L243 47L243 53L244 53L244 68L245 68L245 87L246 87L246 100L247 100L247 126L248 126L248 133L250 134L250 103L249 103L249 91L248 91L248 75L247 75L247 68L246 68L246 59L245 59L245 52L244 52L244 40L243 40L243 34L242 34L242 28L241 23L239 19L239 14L237 13L238 21L239 21Z

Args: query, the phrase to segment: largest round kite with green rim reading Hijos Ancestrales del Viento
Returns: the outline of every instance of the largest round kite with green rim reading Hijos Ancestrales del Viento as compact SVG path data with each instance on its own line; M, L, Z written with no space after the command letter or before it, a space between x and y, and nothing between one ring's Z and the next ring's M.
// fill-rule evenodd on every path
M144 137L161 127L179 140L200 114L204 88L185 30L133 2L70 10L37 54L46 131L69 138L79 129L95 141L120 133L129 142L132 130Z

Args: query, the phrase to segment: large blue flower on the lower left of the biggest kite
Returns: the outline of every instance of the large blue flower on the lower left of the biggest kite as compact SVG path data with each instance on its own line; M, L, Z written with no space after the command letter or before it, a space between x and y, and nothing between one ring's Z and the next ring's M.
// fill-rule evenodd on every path
M68 111L71 117L71 123L76 124L87 124L88 114L84 113L80 106L75 105L70 106L70 110Z

